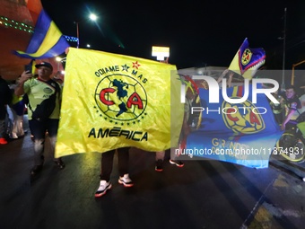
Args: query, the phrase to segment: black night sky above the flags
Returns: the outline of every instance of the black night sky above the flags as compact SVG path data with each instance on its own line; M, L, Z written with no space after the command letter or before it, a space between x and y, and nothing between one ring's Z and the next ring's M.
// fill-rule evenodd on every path
M185 67L229 66L242 41L265 48L266 66L283 65L283 12L286 17L286 66L305 59L305 1L153 1L42 0L60 31L76 37L80 48L134 57L152 57L152 46L170 47L170 64ZM268 2L272 2L268 4ZM98 22L88 20L99 15ZM72 44L76 46L76 44ZM305 52L304 52L305 53Z

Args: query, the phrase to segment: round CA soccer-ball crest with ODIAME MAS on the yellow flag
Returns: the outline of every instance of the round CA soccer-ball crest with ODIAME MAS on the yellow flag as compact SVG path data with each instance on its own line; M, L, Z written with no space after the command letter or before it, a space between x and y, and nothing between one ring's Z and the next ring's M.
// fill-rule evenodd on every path
M96 72L102 78L94 93L94 108L102 119L115 125L131 126L147 115L147 94L143 85L147 79L138 74L140 65L135 63L135 69L132 70L130 66L124 65L103 67Z

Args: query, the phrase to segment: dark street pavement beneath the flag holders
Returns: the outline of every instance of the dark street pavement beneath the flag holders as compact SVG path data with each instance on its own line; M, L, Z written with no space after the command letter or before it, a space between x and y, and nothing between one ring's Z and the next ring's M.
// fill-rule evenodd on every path
M302 163L298 171L274 157L259 170L211 160L179 168L167 154L155 172L154 153L132 148L135 186L118 184L115 157L112 189L94 198L100 153L65 156L59 170L46 151L43 171L30 181L32 146L30 134L0 145L1 229L304 228Z

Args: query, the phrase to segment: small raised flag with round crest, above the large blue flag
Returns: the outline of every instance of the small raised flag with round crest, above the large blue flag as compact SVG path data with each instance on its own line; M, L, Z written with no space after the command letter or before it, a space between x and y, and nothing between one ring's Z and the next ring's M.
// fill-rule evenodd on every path
M242 75L246 79L252 79L257 69L265 64L265 59L264 48L249 48L246 38L231 61L229 70Z

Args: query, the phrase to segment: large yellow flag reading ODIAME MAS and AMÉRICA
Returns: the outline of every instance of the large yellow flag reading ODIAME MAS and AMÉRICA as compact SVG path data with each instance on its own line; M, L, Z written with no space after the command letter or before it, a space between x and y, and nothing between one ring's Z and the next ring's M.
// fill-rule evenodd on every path
M56 157L124 146L154 152L177 145L183 104L170 99L180 99L178 78L173 65L70 48Z

